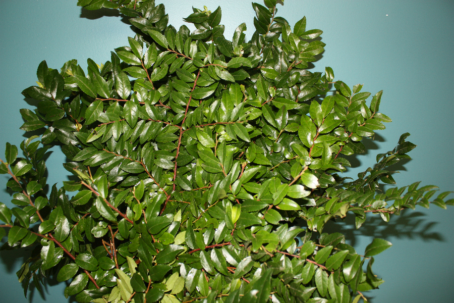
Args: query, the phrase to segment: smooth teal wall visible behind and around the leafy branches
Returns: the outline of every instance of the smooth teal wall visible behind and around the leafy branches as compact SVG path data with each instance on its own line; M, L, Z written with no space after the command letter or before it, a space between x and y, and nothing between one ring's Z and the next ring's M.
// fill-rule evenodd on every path
M183 24L191 7L222 7L225 35L248 20L248 37L253 33L254 12L242 0L162 0L175 27ZM156 0L159 3L159 0ZM355 176L372 166L377 153L394 147L399 136L409 138L418 147L410 153L414 158L395 176L399 185L416 181L437 184L442 191L454 190L454 97L451 91L454 76L454 2L360 1L360 0L286 0L278 15L291 25L305 15L308 29L324 31L327 44L323 58L315 63L315 71L325 66L334 70L335 79L348 85L364 84L364 90L384 90L381 112L393 119L374 141L372 148L359 156ZM34 0L0 1L0 158L5 143L19 145L25 137L19 130L23 121L21 108L32 108L20 92L35 85L36 68L42 60L49 67L60 68L70 59L77 59L86 68L87 58L101 63L110 59L110 51L126 45L130 27L118 16L101 16L82 11L76 1ZM65 157L53 150L47 162L48 183L58 182L66 171ZM0 176L2 188L7 178ZM9 194L0 190L0 201L9 203ZM368 293L372 303L425 303L452 301L454 296L454 208L443 211L436 207L422 208L395 217L389 224L371 218L360 231L351 221L330 226L350 237L358 252L373 237L381 237L394 245L377 256L376 274L386 282L380 290ZM3 242L2 242L3 243ZM19 258L16 258L19 257ZM17 250L0 252L0 298L3 302L67 302L63 283L48 287L45 298L35 291L24 298L15 272L23 257ZM54 280L50 283L56 284Z

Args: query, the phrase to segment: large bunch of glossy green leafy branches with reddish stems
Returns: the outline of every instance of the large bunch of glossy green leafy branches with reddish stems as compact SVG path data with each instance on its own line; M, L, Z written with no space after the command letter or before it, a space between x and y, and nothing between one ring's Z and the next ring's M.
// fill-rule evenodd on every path
M383 282L373 256L391 243L374 239L359 255L324 225L454 204L449 192L429 202L436 186L381 190L395 184L387 168L410 159L408 133L357 180L342 176L341 155L363 153L361 139L391 121L382 91L368 105L362 85L309 71L322 31L305 17L292 28L276 2L252 4L245 42L245 23L224 37L220 7L193 9L190 32L167 25L154 0L79 0L118 9L137 34L105 64L88 59L87 72L43 61L38 86L23 91L39 103L21 110L21 129L41 135L21 143L24 157L7 143L0 173L17 207L0 203L0 236L9 228L2 249L33 248L17 273L25 295L32 279L40 290L56 275L79 302L366 301ZM48 190L55 145L74 177Z

